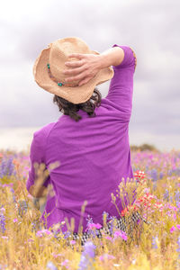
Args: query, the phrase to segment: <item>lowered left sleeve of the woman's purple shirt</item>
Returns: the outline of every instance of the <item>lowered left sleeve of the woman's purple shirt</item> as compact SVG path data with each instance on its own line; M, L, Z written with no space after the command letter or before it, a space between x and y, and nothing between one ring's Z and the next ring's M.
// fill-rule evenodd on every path
M31 148L30 148L30 160L31 160L31 169L29 170L29 177L26 182L26 188L29 192L30 187L34 184L36 179L34 163L37 162L39 165L40 163L45 164L45 136L40 132L34 132L33 139L31 141ZM48 186L50 182L49 176L46 178L45 182L43 183L44 186Z

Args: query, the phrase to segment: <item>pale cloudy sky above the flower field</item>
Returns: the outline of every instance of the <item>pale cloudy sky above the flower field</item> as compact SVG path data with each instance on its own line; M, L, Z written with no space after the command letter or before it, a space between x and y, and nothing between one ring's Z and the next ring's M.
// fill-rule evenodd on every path
M0 148L21 145L17 130L30 142L33 131L58 120L53 94L36 84L32 67L50 42L76 36L100 53L113 44L135 51L130 143L180 149L179 10L176 0L2 2ZM98 88L105 97L109 82Z

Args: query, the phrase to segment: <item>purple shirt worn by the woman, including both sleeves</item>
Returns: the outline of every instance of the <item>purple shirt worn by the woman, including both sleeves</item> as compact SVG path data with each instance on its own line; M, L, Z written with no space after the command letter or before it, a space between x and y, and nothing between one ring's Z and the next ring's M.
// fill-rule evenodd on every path
M114 44L112 47L119 46ZM83 231L88 215L94 223L103 225L103 211L119 217L112 203L111 193L116 194L121 178L133 178L130 164L129 122L132 108L133 75L136 58L129 46L119 46L124 58L119 66L113 67L109 93L95 108L96 116L90 118L79 110L83 119L76 122L68 115L50 122L33 134L31 142L31 170L26 183L29 191L34 184L33 163L60 165L49 172L44 185L52 184L55 195L48 197L41 215L47 218L47 228L67 217L75 219L74 232L78 231L81 206L85 201ZM120 200L116 200L122 210ZM62 226L62 231L67 225Z

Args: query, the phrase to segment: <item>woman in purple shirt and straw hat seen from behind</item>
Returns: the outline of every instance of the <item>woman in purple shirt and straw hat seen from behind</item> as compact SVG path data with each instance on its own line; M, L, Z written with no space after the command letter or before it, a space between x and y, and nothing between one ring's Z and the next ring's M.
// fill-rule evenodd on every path
M114 44L100 54L79 38L56 40L36 59L36 83L54 94L53 102L63 112L58 121L34 132L31 142L27 190L34 197L40 197L48 184L54 190L41 216L47 228L73 218L74 232L81 225L85 232L89 216L103 225L103 211L120 218L111 193L122 177L133 178L128 132L135 68L130 47ZM96 85L109 79L109 92L102 98ZM56 162L58 166L50 169ZM34 163L49 169L38 193ZM121 200L117 205L121 212ZM61 229L67 231L67 222Z

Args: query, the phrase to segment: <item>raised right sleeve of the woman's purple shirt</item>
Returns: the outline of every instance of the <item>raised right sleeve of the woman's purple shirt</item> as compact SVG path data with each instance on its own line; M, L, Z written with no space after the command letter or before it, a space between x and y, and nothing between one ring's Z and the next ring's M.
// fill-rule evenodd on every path
M112 77L107 99L115 103L119 108L121 119L130 121L133 95L133 75L136 68L136 55L129 46L118 46L124 51L124 58L120 65L112 66L114 76Z

